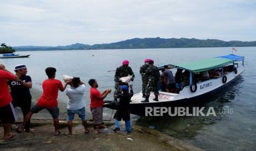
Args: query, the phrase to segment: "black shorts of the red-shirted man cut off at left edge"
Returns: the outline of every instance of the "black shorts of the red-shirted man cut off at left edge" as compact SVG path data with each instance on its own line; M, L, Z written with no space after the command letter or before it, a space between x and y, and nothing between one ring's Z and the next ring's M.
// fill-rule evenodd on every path
M12 103L0 107L0 121L2 124L10 124L14 121L17 121L17 117Z

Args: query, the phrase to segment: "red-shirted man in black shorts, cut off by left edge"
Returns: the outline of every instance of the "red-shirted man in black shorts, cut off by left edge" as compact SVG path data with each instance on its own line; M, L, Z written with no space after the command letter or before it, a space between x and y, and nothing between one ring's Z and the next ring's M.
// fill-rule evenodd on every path
M0 65L0 121L3 124L3 140L14 136L11 133L12 123L17 121L15 111L12 105L12 96L10 96L7 80L17 80L15 76L7 71L4 65Z

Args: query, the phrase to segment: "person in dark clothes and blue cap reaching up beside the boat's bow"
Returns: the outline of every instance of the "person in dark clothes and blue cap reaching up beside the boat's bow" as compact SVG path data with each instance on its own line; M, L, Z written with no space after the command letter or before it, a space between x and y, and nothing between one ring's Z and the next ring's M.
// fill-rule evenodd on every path
M120 98L119 101L119 107L117 109L117 112L114 116L116 128L113 131L120 131L120 126L118 121L121 121L122 119L126 122L126 131L127 133L130 133L132 131L132 127L130 127L130 98L133 96L133 86L130 85L130 93L128 86L122 85L121 86L122 93L118 93L117 98Z

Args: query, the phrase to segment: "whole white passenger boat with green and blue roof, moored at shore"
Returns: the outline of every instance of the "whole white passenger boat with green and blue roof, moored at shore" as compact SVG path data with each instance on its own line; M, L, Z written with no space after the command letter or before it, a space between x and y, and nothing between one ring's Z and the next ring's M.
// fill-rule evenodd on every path
M159 67L159 71L162 68L164 66ZM130 102L130 113L144 116L146 107L186 106L192 102L199 102L200 98L214 94L227 86L245 70L244 57L233 54L187 63L177 63L176 65L170 64L168 65L168 69L171 69L173 72L175 69L183 69L183 73L188 73L188 83L183 83L183 89L179 93L164 92L160 89L159 101L153 101L155 96L151 92L149 102L146 103L141 102L145 100L141 92L134 94L131 98L132 102ZM194 75L200 75L203 72L209 73L209 71L219 72L220 75L219 77L208 79L198 78L195 80L196 76ZM104 106L117 109L118 102L107 101L104 103Z

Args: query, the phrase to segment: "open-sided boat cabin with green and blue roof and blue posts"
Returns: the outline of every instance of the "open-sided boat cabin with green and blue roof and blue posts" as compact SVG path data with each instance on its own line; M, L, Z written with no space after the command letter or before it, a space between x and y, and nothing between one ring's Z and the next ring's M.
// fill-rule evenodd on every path
M230 74L231 72L235 72L237 74L238 66L244 66L244 57L231 54L167 66L168 69L171 69L174 77L177 71L182 72L181 89L176 89L175 92L178 94L179 91L182 91L185 87L188 86L191 86L191 91L194 92L196 91L195 84L211 79L222 78L222 82L226 83L227 74ZM159 67L159 70L161 71L162 68L164 68L164 66ZM161 90L161 88L162 86L160 82L159 91L166 92L166 90Z

